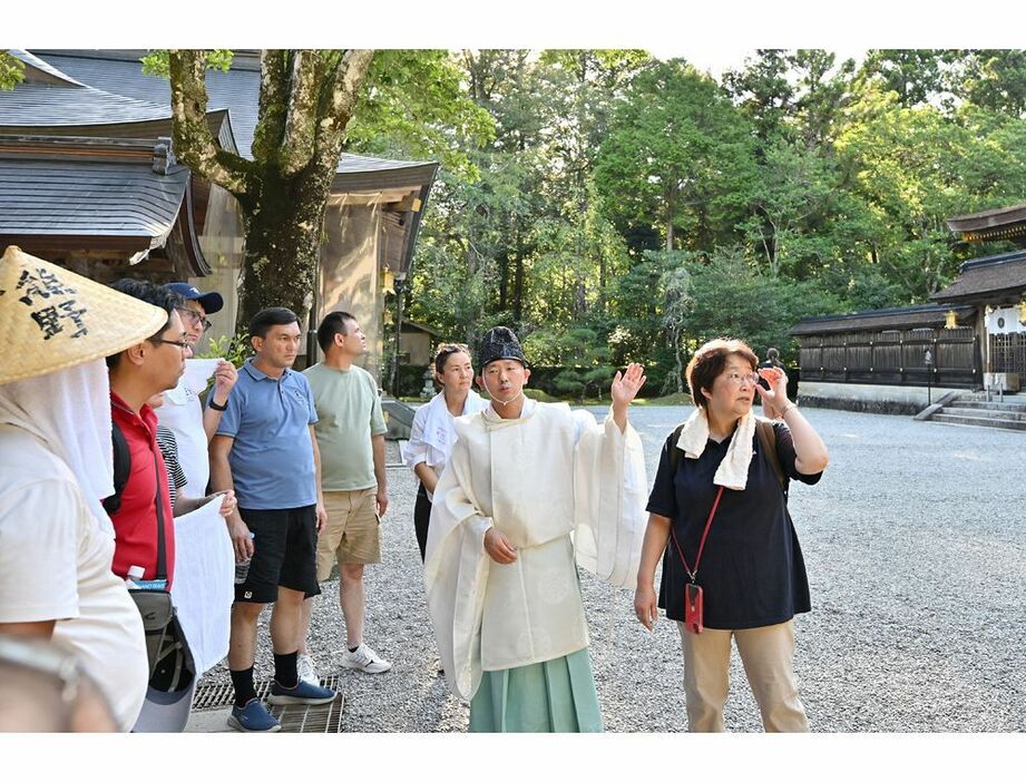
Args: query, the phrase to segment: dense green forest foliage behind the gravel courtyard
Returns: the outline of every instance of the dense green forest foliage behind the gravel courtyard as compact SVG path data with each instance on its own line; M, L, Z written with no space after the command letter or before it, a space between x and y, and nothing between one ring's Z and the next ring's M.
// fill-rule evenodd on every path
M443 164L408 316L512 325L575 399L632 360L680 391L721 335L794 363L798 320L926 301L979 254L945 221L1026 193L1018 50L764 49L719 84L638 50L388 51L365 86L348 148Z

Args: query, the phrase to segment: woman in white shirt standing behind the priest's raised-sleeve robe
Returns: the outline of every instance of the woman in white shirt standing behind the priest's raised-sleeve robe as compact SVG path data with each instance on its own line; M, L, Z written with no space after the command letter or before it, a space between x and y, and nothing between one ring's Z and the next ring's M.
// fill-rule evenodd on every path
M420 479L417 505L413 508L413 527L417 530L421 561L428 544L428 521L434 486L449 461L452 443L456 442L452 419L476 413L487 404L471 388L473 365L470 349L465 344L447 342L438 346L434 354L434 379L442 390L417 410L410 440L402 449L403 461L413 468Z

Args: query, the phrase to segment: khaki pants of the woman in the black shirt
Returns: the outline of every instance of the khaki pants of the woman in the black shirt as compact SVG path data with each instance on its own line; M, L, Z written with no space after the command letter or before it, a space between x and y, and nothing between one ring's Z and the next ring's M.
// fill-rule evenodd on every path
M731 637L744 664L768 733L805 733L809 721L794 684L794 622L742 631L705 629L688 633L677 622L684 649L684 700L687 730L722 733L726 704Z

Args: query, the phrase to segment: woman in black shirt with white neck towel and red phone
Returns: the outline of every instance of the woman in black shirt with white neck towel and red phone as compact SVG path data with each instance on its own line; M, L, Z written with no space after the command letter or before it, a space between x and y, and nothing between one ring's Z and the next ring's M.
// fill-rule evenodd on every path
M687 724L695 732L724 730L731 638L765 730L808 730L792 669L792 617L810 608L809 583L786 483L815 483L828 454L788 400L783 370L756 374L756 364L740 340L698 349L685 371L695 412L667 438L648 498L634 607L648 629L657 605L677 620ZM756 393L774 422L755 419Z

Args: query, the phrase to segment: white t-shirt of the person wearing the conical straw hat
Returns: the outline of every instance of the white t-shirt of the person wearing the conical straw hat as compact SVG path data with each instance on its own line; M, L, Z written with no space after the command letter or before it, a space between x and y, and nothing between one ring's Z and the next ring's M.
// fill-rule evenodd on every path
M149 666L143 620L113 559L114 537L68 467L35 436L0 424L0 623L57 619L53 641L78 654L128 731Z

